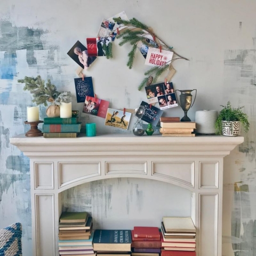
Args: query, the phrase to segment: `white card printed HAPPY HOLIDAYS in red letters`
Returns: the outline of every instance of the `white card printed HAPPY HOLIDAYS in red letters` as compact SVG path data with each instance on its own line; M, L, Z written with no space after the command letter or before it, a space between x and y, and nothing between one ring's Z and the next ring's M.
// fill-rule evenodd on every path
M164 66L171 63L173 52L149 47L145 65Z

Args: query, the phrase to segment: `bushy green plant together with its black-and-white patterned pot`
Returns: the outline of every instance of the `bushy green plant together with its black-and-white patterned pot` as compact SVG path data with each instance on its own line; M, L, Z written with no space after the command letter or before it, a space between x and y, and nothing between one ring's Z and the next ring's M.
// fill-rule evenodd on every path
M239 124L241 123L244 127L244 131L248 132L250 123L248 121L248 116L243 113L242 108L231 107L230 101L228 101L227 106L223 106L220 110L217 121L215 122L215 129L217 134L222 134L225 136L237 136L239 133Z

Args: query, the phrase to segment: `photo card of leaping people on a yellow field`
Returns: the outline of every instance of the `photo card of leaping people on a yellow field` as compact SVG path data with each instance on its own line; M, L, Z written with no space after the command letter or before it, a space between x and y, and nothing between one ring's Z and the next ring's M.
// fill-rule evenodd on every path
M132 114L123 110L109 108L107 111L105 125L127 130Z

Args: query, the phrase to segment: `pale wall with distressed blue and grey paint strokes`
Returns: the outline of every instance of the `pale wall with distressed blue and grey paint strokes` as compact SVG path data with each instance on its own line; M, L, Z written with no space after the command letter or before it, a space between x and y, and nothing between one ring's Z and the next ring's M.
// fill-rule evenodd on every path
M189 110L220 110L231 101L234 107L245 106L251 128L245 142L225 158L223 195L223 252L225 256L256 254L255 202L255 92L256 92L256 2L234 0L2 0L0 2L0 228L20 221L23 225L23 254L31 256L31 213L29 159L9 139L25 133L27 106L33 106L28 92L18 79L41 75L50 78L59 91L71 91L73 109L82 113L83 103L76 103L74 78L78 65L67 52L79 40L97 35L101 20L125 11L152 27L155 33L189 61L173 63L177 73L175 89L197 89L195 105ZM86 76L93 77L94 91L110 101L110 107L135 108L145 100L137 87L148 69L137 54L134 67L126 67L129 45L114 44L114 59L98 58ZM159 79L161 82L161 79ZM182 116L180 108L165 110L165 116ZM40 106L40 119L45 107ZM97 123L98 132L118 133L103 125L103 118L81 114L85 122ZM128 132L131 132L131 127ZM154 147L154 145L152 145ZM155 196L149 193L154 186ZM117 197L117 192L121 193ZM167 193L165 193L167 191ZM172 195L170 205L161 209L163 194ZM97 197L97 195L99 195ZM177 196L180 195L180 196ZM153 198L157 214L150 208ZM160 197L160 199L159 199ZM136 214L161 218L163 213L190 212L187 191L178 187L152 184L141 180L106 180L92 182L65 192L66 209L87 209L97 216L98 224L123 214L134 220ZM99 198L102 198L100 200ZM118 201L119 200L119 201ZM178 202L182 200L182 204ZM84 202L77 206L78 202ZM159 203L160 202L160 203ZM161 204L162 203L162 204ZM160 213L159 213L160 212ZM150 215L151 214L151 215Z

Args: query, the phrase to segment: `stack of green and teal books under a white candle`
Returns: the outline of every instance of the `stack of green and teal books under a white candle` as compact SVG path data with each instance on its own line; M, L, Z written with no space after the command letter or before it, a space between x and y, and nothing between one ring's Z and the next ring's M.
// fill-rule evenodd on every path
M44 138L76 138L81 127L78 117L45 117L43 135Z

